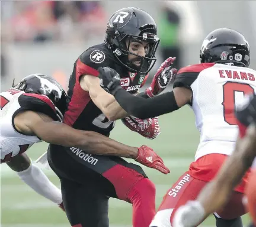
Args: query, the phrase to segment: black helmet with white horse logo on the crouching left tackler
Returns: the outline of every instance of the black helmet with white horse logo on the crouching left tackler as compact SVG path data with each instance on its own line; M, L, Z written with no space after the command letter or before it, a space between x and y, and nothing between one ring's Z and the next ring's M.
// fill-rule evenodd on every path
M44 74L31 74L24 77L18 85L12 85L15 89L25 93L46 95L55 105L57 117L63 119L66 110L66 92L62 86L52 77Z

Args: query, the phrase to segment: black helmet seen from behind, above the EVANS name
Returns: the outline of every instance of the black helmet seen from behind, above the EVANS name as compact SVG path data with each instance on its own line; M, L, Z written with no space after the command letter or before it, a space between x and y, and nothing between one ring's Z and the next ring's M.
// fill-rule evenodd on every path
M200 63L249 66L249 44L244 35L230 28L219 28L204 39Z

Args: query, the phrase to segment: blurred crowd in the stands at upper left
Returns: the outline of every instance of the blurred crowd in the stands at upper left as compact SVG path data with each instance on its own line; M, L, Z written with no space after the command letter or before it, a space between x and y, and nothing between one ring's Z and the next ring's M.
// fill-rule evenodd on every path
M1 2L3 41L84 41L102 33L105 24L98 1Z

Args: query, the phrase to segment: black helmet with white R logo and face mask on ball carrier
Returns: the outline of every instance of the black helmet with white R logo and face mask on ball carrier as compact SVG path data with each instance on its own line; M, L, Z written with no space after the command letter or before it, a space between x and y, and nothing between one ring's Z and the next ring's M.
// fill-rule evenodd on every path
M128 39L128 47L126 41ZM129 51L130 41L149 42L149 51L145 57ZM114 56L131 72L148 73L155 64L155 52L159 44L156 23L147 12L135 7L127 7L115 12L108 21L105 44L113 51ZM128 54L141 59L140 66L130 63Z

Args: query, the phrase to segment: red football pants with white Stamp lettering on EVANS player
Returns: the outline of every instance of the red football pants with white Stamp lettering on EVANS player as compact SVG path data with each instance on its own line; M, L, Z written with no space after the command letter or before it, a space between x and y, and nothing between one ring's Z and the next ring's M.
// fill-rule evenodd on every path
M215 177L225 159L226 155L209 154L191 163L190 170L185 172L165 194L150 226L171 227L178 207L187 203L188 200L197 198L201 189ZM236 187L229 203L222 210L216 211L217 216L223 219L234 219L246 213L242 198L248 174Z

